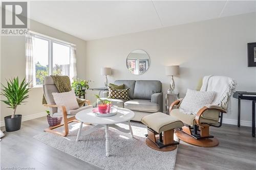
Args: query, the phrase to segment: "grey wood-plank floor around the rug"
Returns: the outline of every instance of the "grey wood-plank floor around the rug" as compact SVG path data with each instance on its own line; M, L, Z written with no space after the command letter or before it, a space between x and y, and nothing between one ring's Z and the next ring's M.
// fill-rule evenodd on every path
M5 132L0 142L2 169L100 169L33 138L46 127L46 118L41 117L23 122L19 131ZM211 134L218 137L218 147L199 148L181 141L176 169L256 169L256 138L251 128L224 124L211 127Z

